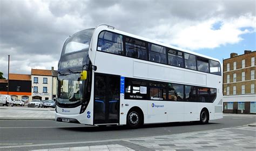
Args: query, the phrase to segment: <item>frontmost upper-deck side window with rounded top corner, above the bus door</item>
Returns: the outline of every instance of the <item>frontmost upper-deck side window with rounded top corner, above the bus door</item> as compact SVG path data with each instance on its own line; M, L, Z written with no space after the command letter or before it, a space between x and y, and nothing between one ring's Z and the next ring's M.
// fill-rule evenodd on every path
M123 55L123 36L109 31L101 32L98 39L98 50Z

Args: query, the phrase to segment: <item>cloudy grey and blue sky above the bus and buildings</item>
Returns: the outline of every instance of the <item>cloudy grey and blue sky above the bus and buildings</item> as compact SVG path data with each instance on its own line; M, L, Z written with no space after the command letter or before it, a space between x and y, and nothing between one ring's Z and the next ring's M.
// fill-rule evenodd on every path
M73 33L109 24L222 61L256 50L256 1L0 1L0 71L57 69Z

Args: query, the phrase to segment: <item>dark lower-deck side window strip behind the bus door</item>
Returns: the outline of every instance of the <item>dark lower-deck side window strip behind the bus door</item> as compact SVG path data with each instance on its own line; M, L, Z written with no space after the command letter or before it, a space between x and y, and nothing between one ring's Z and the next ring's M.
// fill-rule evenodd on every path
M213 102L216 88L125 78L125 99Z

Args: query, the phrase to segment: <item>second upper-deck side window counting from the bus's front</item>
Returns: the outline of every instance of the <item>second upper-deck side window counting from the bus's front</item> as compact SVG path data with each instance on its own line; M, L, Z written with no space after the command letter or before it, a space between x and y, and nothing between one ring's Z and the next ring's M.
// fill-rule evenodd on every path
M146 43L133 38L125 38L126 56L147 60Z

